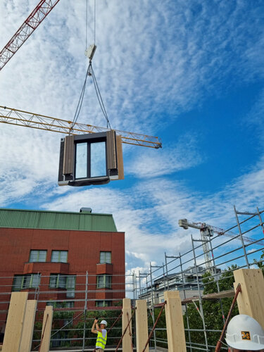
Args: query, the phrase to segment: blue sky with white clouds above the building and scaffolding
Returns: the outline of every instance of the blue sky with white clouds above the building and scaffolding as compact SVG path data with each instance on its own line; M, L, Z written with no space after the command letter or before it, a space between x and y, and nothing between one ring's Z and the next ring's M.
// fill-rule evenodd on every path
M1 2L0 47L37 3ZM1 70L0 105L73 120L85 8L58 3ZM92 44L94 1L88 10ZM1 124L1 206L113 213L128 272L190 248L180 218L227 228L234 204L262 210L263 13L258 0L97 0L93 68L111 126L156 135L163 149L123 145L124 181L58 187L61 134ZM90 81L78 121L106 127Z

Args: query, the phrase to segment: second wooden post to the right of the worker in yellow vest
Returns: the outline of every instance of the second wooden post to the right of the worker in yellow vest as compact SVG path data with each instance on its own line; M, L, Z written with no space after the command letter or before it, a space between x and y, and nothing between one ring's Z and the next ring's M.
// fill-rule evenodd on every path
M146 300L139 299L136 301L136 337L137 337L137 352L142 352L146 341L148 341L148 315L146 311ZM125 351L125 350L123 350ZM146 352L149 352L147 346Z

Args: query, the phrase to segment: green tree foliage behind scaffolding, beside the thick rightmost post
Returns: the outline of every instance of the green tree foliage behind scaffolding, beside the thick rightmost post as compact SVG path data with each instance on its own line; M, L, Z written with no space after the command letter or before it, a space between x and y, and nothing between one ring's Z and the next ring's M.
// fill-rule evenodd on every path
M237 268L237 265L232 265L228 270L222 272L218 280L218 286L220 291L226 291L234 289L234 275L233 270ZM203 275L203 295L213 294L218 292L217 282L214 277L210 275L209 272L206 272ZM209 330L220 330L224 326L224 321L222 315L227 318L227 314L230 310L232 304L232 298L222 298L221 300L203 300L203 316L205 321L206 329ZM199 301L196 301L196 305L201 311L199 306ZM237 305L234 306L232 316L239 314ZM203 329L203 321L199 315L198 310L194 306L194 303L191 303L187 307L187 313L184 314L184 327L187 329L187 320L189 320L190 329ZM203 331L199 332L185 332L186 341L189 341L189 336L191 337L191 342L196 344L205 345L205 336ZM220 337L220 332L207 332L208 345L210 346L210 351L215 350L215 345ZM195 349L195 348L194 348ZM198 350L197 350L198 351Z

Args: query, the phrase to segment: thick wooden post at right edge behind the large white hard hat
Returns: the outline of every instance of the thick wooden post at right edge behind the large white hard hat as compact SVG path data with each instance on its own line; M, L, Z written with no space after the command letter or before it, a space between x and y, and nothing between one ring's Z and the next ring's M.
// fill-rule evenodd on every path
M237 296L239 314L250 315L264 327L264 278L260 269L239 269L234 271L234 288L241 284Z

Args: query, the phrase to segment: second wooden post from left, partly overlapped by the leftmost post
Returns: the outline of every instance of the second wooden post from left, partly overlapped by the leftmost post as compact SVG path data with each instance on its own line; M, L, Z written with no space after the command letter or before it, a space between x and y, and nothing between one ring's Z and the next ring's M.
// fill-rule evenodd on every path
M37 309L37 301L34 299L28 300L26 310L25 310L25 319L24 319L23 332L22 332L22 338L20 343L20 352L31 351L36 309Z

